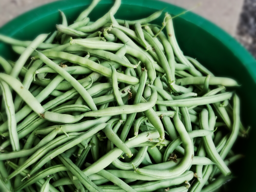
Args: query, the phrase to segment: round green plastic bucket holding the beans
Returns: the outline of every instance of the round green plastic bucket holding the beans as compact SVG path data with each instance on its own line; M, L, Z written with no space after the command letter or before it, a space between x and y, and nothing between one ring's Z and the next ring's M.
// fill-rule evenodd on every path
M38 34L50 33L55 25L61 23L58 9L64 11L71 23L91 0L61 0L29 11L0 28L0 34L20 40L32 40ZM102 0L89 15L95 21L112 6L113 0ZM183 9L168 3L153 0L122 0L115 17L137 20L153 12L164 11L179 14ZM153 23L161 25L164 14ZM241 98L241 120L244 126L251 126L248 138L239 138L233 151L244 154L245 158L231 165L234 176L238 178L224 185L225 191L256 192L256 61L229 34L208 20L188 12L174 19L175 35L185 55L196 58L216 76L231 77L241 86L236 89ZM0 55L15 60L17 55L11 47L0 43ZM219 129L225 129L221 127Z

